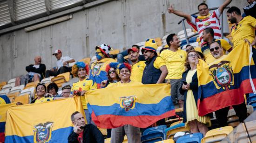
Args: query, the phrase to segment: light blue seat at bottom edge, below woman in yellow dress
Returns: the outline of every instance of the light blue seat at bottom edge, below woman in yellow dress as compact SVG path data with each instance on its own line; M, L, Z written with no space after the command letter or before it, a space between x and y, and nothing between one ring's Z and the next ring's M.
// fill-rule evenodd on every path
M194 133L181 136L177 139L176 143L201 143L202 133Z

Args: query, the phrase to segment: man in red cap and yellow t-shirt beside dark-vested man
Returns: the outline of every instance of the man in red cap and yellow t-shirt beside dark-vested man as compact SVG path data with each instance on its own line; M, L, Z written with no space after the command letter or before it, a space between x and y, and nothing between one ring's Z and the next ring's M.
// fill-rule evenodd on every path
M139 50L137 47L133 46L132 48L128 49L128 57L131 61L132 65L132 75L131 80L141 82L143 70L146 66L145 61L139 60Z

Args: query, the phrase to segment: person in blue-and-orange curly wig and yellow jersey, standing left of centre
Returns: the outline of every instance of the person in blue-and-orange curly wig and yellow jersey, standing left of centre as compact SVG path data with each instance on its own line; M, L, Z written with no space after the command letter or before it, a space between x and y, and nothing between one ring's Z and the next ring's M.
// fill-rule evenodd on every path
M86 78L86 75L89 73L89 68L84 62L76 62L72 66L71 73L74 77L78 77L79 79L78 82L73 83L71 93L73 95L81 96L81 103L85 112L87 123L92 123L92 118L87 108L85 92L97 89L97 84L93 80Z

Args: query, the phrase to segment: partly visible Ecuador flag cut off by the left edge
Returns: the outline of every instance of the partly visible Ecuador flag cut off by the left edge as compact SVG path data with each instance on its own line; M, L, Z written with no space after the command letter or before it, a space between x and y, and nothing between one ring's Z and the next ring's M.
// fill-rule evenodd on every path
M5 142L5 123L7 110L15 105L16 103L0 104L0 143Z

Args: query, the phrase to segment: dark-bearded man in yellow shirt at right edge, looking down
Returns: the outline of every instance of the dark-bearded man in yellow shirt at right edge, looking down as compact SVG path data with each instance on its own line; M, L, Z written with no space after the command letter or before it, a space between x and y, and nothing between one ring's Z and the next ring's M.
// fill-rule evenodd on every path
M230 23L235 23L235 26L231 28L231 36L236 48L239 43L248 40L251 45L256 44L255 28L256 19L251 16L242 17L241 11L237 7L230 7L227 11L228 20Z

